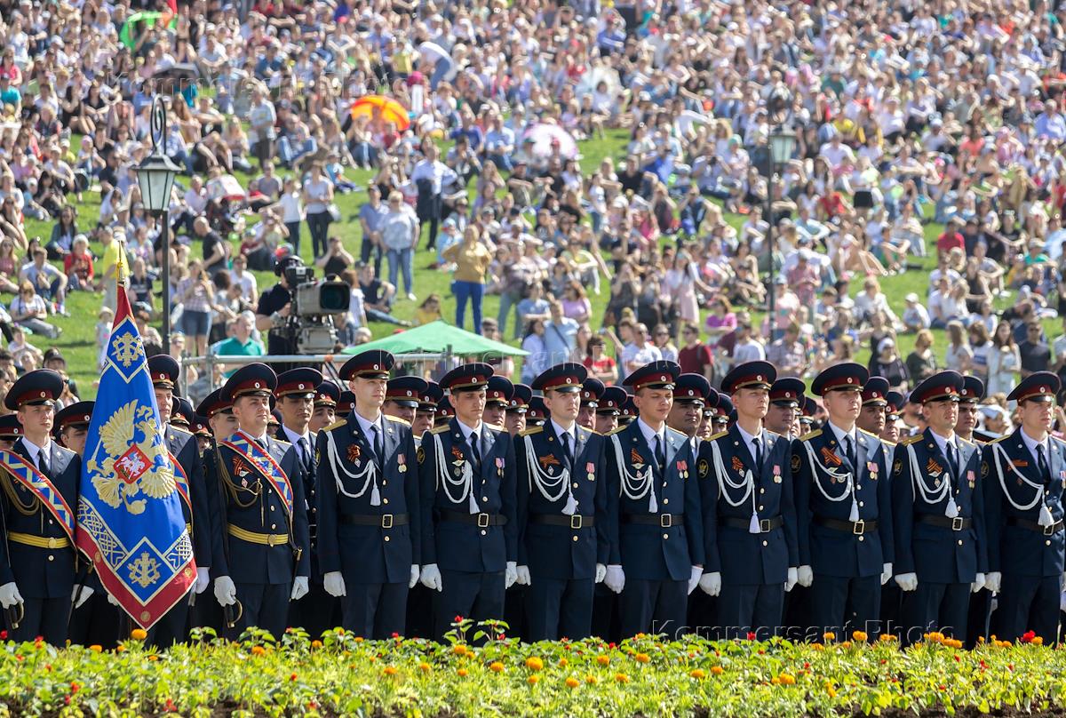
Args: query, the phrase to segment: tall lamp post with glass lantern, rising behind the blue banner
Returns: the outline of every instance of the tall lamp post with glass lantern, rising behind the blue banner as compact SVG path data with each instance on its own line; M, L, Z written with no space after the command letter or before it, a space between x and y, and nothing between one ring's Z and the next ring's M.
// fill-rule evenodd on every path
M166 156L166 107L157 95L151 102L151 154L136 167L136 184L141 202L147 211L161 217L163 241L163 351L171 351L171 191L181 169ZM175 357L178 358L178 357Z

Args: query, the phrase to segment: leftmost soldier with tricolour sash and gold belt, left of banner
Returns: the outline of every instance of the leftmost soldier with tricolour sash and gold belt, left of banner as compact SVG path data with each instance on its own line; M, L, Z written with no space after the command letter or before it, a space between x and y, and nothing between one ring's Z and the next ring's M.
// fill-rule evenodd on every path
M76 590L79 603L94 593L91 586L75 586L78 557L72 544L74 511L78 506L81 457L51 440L55 399L63 393L63 377L51 369L22 374L4 397L15 412L22 435L15 442L12 461L37 469L47 482L43 500L21 478L0 470L0 512L4 541L0 542L0 606L7 611L7 627L15 641L43 636L53 645L67 639L67 621ZM38 479L41 480L41 479ZM36 482L34 482L36 483ZM49 500L50 499L50 500ZM62 499L68 511L58 512ZM14 625L13 619L19 619Z

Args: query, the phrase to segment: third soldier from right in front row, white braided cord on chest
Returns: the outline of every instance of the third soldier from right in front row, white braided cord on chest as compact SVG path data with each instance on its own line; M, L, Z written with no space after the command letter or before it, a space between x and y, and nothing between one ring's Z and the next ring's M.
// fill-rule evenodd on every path
M792 443L801 585L810 586L818 635L878 633L881 587L892 575L892 511L884 443L855 426L869 374L838 364L811 390L826 425ZM846 633L846 632L845 632Z

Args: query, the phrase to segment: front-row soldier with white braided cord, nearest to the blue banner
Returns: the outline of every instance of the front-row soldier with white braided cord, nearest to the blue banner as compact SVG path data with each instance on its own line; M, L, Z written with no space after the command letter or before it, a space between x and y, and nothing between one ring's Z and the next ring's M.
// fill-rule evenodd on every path
M419 500L410 426L382 413L394 360L356 354L340 370L355 411L319 434L319 562L344 628L366 638L405 632L418 580ZM406 389L404 389L406 392Z

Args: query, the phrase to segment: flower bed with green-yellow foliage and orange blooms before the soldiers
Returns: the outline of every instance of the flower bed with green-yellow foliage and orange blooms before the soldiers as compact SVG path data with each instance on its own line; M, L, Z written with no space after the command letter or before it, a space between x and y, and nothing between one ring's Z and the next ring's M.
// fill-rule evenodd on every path
M464 628L468 628L464 625ZM146 649L141 632L115 651L42 642L0 645L0 709L12 715L834 714L930 715L1066 706L1066 652L1034 641L964 651L932 634L901 651L861 635L784 640L598 640L471 647L394 638L208 640ZM480 633L480 632L479 632ZM480 638L480 637L479 637Z

